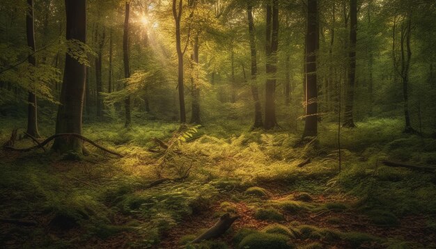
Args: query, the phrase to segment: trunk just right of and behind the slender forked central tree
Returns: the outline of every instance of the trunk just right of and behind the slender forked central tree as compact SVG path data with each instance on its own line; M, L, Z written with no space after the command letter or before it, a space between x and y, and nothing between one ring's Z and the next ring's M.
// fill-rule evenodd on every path
M199 81L199 74L198 74L198 35L196 35L194 39L194 51L192 53L192 61L194 62L194 70L196 71L196 79L192 77L192 117L191 122L194 124L200 124L201 118L200 118L200 86L198 85Z

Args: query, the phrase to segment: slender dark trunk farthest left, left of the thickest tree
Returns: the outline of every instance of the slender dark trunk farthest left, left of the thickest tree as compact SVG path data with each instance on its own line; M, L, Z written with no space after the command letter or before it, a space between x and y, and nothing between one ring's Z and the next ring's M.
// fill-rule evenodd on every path
M26 15L26 33L27 33L27 46L31 48L31 53L35 53L35 21L34 21L34 11L33 11L33 0L27 0L28 11ZM33 70L36 70L36 58L34 55L29 55L28 61L33 65ZM27 133L34 137L39 137L38 132L38 109L36 103L36 82L31 84L31 91L29 91L28 97L28 111L27 111Z

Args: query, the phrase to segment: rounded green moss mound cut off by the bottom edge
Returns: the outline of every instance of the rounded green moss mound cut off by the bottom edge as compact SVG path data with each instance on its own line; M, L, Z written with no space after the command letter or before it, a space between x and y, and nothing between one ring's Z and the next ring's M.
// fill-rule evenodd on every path
M255 234L250 234L246 236L238 248L244 249L292 249L295 246L288 243L288 237L282 234L267 234L263 232L258 232Z

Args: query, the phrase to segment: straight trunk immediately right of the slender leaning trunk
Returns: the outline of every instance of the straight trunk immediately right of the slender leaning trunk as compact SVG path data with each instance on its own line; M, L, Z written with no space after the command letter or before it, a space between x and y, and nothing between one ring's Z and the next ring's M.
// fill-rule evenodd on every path
M277 49L279 47L279 3L272 1L267 5L267 33L266 33L266 73L265 83L265 129L273 129L277 125L275 90L277 73Z

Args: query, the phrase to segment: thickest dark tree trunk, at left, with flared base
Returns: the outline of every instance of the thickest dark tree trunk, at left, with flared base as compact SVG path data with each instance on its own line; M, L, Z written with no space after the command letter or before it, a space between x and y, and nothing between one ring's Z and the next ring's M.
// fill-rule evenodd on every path
M86 0L65 0L66 39L86 43ZM70 54L65 55L65 70L56 120L56 134L81 134L82 109L86 67ZM58 152L74 151L83 153L83 140L80 138L59 137L54 140L53 150Z

